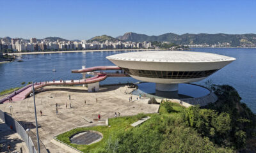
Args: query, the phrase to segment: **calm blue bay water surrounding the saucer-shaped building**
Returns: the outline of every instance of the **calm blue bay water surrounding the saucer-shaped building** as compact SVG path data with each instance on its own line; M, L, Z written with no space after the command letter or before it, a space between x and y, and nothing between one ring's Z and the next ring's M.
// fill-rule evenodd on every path
M256 113L256 48L195 48L193 51L235 57L236 61L196 84L204 85L204 82L211 80L214 84L232 85L239 92L242 101ZM81 78L80 74L71 73L71 70L80 69L83 65L113 65L106 56L123 52L128 51L22 55L24 62L0 64L0 91L19 87L21 82ZM54 68L56 72L52 72ZM137 82L133 78L107 78L100 84L127 81Z

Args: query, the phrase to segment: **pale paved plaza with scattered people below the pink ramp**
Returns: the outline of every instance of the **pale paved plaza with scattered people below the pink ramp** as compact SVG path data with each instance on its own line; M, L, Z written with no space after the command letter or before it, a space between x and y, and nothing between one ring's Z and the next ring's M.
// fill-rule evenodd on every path
M99 92L87 92L86 87L45 87L44 92L38 92L35 96L40 140L50 152L68 152L51 143L52 138L78 127L105 125L106 119L115 117L115 112L120 112L121 117L138 113L157 113L159 105L149 105L147 98L139 99L138 96L125 94L131 91L132 89L124 85L100 87ZM129 101L131 96L132 101ZM56 115L56 103L58 115ZM12 117L26 124L27 128L31 128L35 133L33 97L4 103L0 105L0 109L10 113L10 105L12 105ZM95 121L98 114L101 115L101 120ZM93 122L90 123L88 120Z

